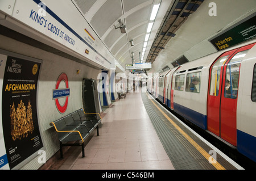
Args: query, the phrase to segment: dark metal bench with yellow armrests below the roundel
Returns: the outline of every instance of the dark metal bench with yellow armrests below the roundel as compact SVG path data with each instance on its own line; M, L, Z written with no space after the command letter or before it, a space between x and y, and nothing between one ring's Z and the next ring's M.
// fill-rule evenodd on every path
M97 119L99 115L100 119ZM63 146L82 146L82 157L84 157L84 140L101 123L99 113L85 113L81 108L67 116L50 123L58 133L60 141L60 157L63 158Z

